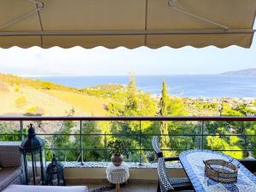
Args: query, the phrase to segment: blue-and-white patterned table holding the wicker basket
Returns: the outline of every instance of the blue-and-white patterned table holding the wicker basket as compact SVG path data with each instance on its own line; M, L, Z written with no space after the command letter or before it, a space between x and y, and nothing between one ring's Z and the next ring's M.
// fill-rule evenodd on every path
M232 160L234 165L239 165L237 183L218 183L205 176L205 165L203 160ZM180 162L188 175L195 191L197 192L255 192L256 177L247 168L242 166L238 160L227 154L213 152L211 150L188 150L180 154Z

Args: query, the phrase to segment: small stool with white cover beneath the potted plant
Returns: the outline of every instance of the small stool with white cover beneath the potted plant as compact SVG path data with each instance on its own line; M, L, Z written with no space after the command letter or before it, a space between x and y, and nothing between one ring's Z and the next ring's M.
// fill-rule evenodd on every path
M120 183L125 183L130 177L129 166L122 162L120 166L110 163L107 167L107 179L110 183L116 184L116 191L120 191Z

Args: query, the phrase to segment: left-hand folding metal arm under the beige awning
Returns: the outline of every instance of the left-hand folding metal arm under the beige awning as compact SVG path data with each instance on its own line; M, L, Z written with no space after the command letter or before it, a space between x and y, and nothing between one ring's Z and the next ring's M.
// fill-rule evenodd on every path
M0 26L0 29L3 29L7 26L11 26L13 24L15 24L16 22L25 19L26 17L28 17L29 15L33 15L35 13L38 13L38 11L41 11L42 9L44 9L44 3L39 1L39 0L28 0L32 3L36 3L37 8L36 9L32 9L31 11L29 11L28 13L24 14L24 15L20 15L19 17L15 18L14 20L10 20L7 23L4 23L3 25Z

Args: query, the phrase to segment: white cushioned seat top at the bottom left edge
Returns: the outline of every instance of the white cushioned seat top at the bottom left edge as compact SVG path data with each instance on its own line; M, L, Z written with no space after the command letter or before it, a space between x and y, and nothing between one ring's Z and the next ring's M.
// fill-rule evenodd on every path
M88 192L86 186L39 186L11 184L3 192Z

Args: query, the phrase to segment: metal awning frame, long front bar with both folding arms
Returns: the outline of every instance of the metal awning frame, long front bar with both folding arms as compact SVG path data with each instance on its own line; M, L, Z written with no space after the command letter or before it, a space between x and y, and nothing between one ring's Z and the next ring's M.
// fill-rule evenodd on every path
M14 20L10 20L9 22L0 26L0 29L3 29L7 26L13 25L16 22L25 19L26 17L36 14L42 9L44 9L44 3L40 0L27 0L32 3L35 3L37 8L32 9L28 13L24 15L20 15ZM168 6L172 9L177 10L185 15L189 15L198 20L203 20L207 23L210 23L214 26L219 26L223 30L169 30L169 31L49 31L49 32L0 32L0 36L55 36L55 35L170 35L170 34L223 34L223 33L254 33L256 30L248 30L248 29L232 29L230 30L228 26L224 26L216 21L209 20L200 15L195 15L188 10L177 7L174 3L178 0L168 0Z

